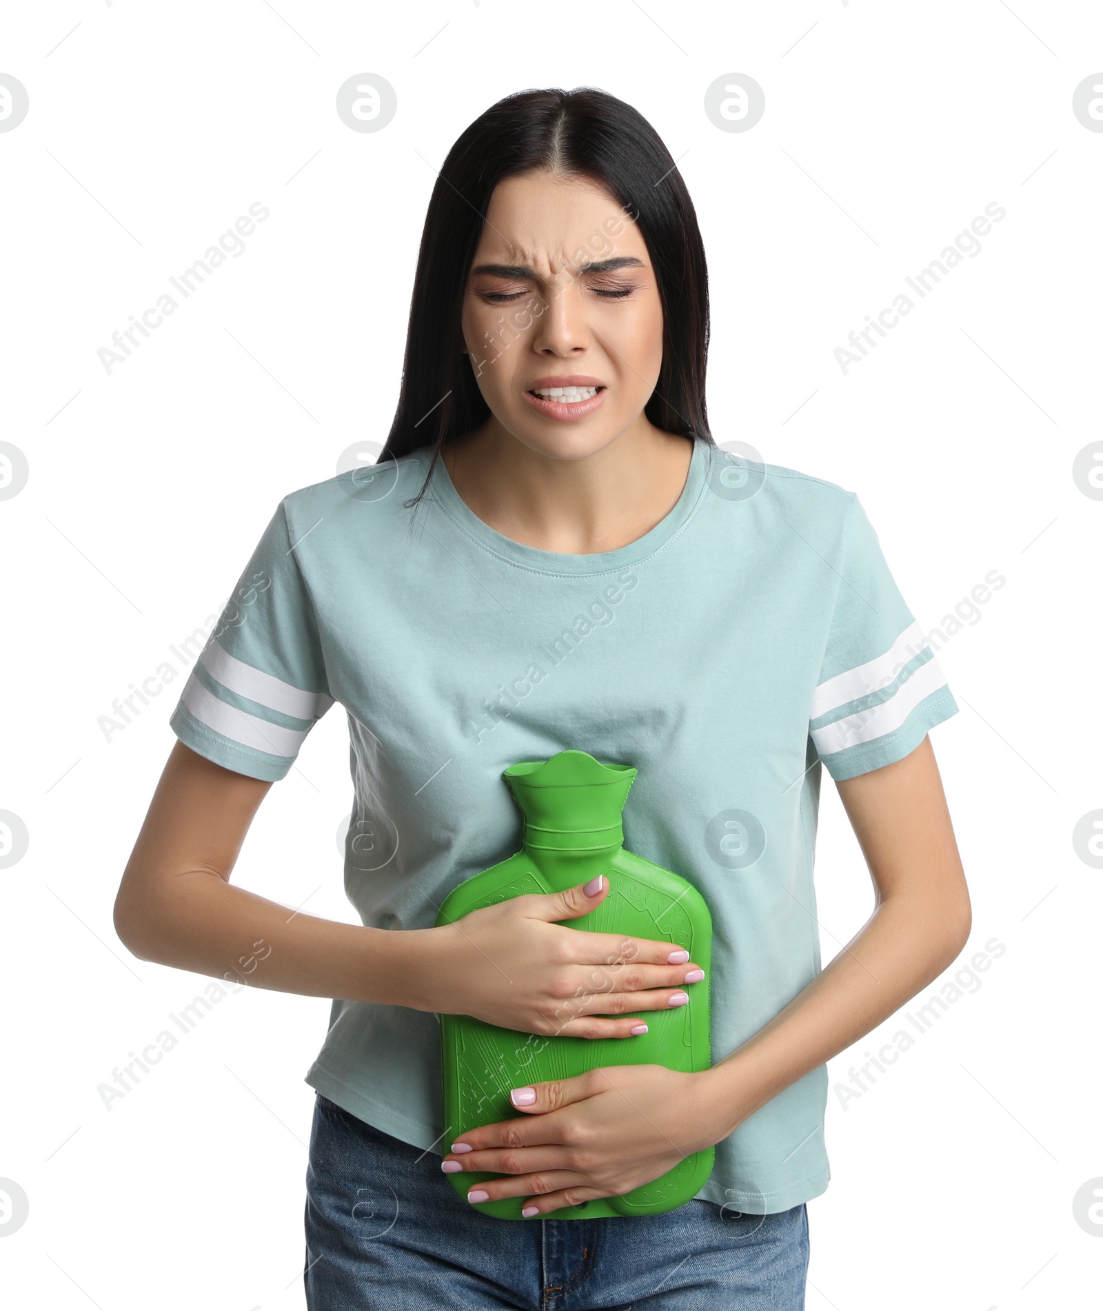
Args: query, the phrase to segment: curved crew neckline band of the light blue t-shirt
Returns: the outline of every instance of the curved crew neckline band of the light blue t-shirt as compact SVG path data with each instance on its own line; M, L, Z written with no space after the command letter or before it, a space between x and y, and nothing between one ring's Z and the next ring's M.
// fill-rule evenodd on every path
M459 492L456 492L443 460L437 460L429 486L437 503L460 532L473 539L484 551L509 564L546 574L578 576L615 573L654 555L681 532L696 513L708 482L710 443L702 437L694 437L692 442L694 450L690 456L690 469L678 499L653 528L649 528L641 538L636 538L635 541L618 547L615 551L572 555L563 551L543 551L539 547L529 547L522 541L514 541L513 538L506 538L497 528L492 528L489 523L484 523L470 509ZM431 459L429 447L418 447L417 456L422 471L428 469L429 460Z

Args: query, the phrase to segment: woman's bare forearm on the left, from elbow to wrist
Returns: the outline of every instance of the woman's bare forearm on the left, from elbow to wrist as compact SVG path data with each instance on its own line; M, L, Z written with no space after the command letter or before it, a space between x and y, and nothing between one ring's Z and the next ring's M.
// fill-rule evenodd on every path
M121 901L119 937L135 956L195 974L304 996L433 1009L421 962L435 929L391 932L304 915L188 871L157 895Z

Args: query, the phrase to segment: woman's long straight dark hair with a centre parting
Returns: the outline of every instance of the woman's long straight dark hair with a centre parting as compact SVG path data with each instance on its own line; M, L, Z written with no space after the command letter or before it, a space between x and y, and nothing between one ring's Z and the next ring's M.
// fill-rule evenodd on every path
M644 414L666 433L712 442L704 410L708 274L682 176L631 105L590 87L553 88L492 105L441 166L417 257L399 408L376 464L431 444L431 476L445 443L489 418L462 353L463 294L494 187L539 168L597 182L639 224L662 304L662 366Z

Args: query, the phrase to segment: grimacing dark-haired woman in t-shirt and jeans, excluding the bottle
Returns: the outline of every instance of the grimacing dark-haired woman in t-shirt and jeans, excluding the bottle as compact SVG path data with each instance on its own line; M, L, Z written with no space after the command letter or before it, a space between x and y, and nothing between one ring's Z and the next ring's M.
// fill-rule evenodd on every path
M115 923L144 958L338 999L307 1076L311 1307L803 1307L825 1062L968 937L927 738L953 697L856 497L715 444L707 341L692 205L653 128L595 90L491 108L433 190L387 447L285 497L173 713ZM333 700L363 927L230 884ZM586 986L618 940L563 922L609 877L434 927L519 846L502 771L565 749L639 770L626 844L704 895L708 981L635 941ZM876 905L821 971L824 766ZM438 1015L619 1045L700 987L711 1068L606 1065L447 1137ZM556 1221L713 1145L675 1210ZM460 1171L498 1177L464 1202ZM475 1210L504 1197L530 1219Z

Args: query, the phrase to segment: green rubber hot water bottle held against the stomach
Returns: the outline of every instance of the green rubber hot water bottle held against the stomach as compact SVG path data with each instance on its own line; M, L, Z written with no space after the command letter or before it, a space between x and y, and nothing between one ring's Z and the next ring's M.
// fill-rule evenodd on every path
M636 1038L539 1037L500 1029L467 1015L441 1015L445 1130L449 1143L466 1130L519 1114L510 1088L568 1079L599 1066L664 1065L696 1072L712 1061L708 981L712 920L700 893L678 874L626 851L620 815L636 777L628 764L602 764L585 751L560 751L550 760L510 766L502 777L525 817L521 851L481 874L467 878L445 899L437 924L451 924L472 910L523 893L557 893L597 874L610 890L597 910L560 920L571 928L669 941L683 947L704 970L690 1003L664 1011L640 1011L649 1029ZM713 1148L694 1152L673 1169L623 1197L601 1197L565 1206L553 1219L601 1215L653 1215L687 1202L712 1171ZM463 1171L449 1175L455 1190L467 1190L500 1175ZM500 1219L522 1219L525 1198L483 1202L476 1210Z

